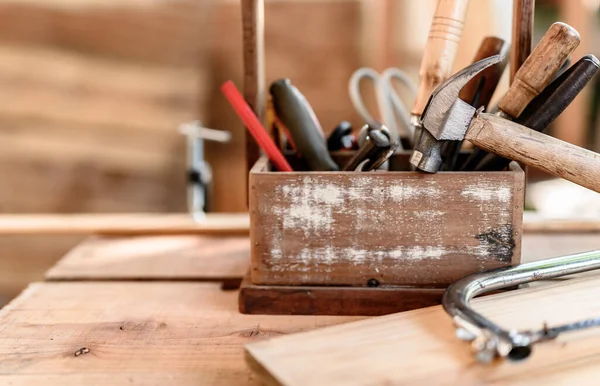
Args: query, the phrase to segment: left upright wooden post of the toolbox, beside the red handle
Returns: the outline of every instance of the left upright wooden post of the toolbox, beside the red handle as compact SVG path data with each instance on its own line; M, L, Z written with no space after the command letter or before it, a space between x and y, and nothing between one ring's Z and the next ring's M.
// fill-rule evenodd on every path
M263 0L242 0L242 29L244 47L244 87L246 102L258 119L265 124L265 18ZM250 133L246 133L246 167L250 171L260 156L259 148Z

